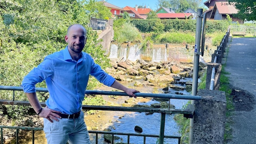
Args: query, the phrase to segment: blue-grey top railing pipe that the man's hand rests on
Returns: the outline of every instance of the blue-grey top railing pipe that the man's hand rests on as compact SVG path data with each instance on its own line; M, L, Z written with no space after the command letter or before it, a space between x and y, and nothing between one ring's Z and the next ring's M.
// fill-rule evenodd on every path
M16 90L23 91L22 87L14 86L0 86L0 90ZM36 88L36 91L48 92L47 88ZM96 94L96 95L121 95L129 96L125 92L118 91L91 91L86 90L85 94ZM183 100L201 100L201 96L195 95L174 95L174 94L161 94L161 93L135 93L137 97L157 97L157 98L168 98L168 99L183 99Z

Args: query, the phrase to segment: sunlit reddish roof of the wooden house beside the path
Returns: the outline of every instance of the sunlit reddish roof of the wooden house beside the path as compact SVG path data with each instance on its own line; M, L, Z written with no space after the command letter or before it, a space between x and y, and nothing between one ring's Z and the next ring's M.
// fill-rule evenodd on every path
M215 6L217 7L219 14L235 14L238 12L234 4L228 2L215 2Z

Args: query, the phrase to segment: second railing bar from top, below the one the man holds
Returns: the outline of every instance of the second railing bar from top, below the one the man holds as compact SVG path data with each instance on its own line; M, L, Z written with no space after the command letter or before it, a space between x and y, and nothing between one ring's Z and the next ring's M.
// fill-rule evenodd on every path
M13 101L13 100L0 100L0 104L22 105L31 106L28 101ZM46 106L44 102L40 102L41 106ZM123 106L91 106L82 105L83 110L107 110L107 111L125 111L125 112L156 112L167 114L193 114L191 110L183 109L163 109L163 108L137 108L137 107L123 107Z

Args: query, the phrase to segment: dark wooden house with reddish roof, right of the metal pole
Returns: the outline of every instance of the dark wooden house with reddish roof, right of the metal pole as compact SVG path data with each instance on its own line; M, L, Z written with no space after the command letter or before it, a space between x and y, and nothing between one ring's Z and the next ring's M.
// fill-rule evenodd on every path
M208 0L204 2L209 10L205 11L206 19L212 20L224 20L227 19L227 14L232 18L232 21L238 21L243 23L243 20L233 17L238 10L235 8L234 4L226 2L225 0Z

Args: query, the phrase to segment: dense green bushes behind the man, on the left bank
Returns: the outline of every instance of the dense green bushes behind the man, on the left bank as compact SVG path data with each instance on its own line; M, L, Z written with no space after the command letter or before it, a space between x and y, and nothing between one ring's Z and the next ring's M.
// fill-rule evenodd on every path
M110 66L102 46L95 45L98 43L97 33L88 26L93 12L88 12L85 7L89 7L87 3L76 0L1 1L0 85L19 87L23 77L40 64L46 55L66 47L64 36L67 27L74 23L80 23L87 29L87 44L84 51L103 69ZM93 81L91 77L88 89L93 89L97 85L92 83ZM43 81L36 87L46 87L46 84ZM1 99L12 100L12 95L12 91L0 91ZM48 96L48 93L38 93L40 102L45 102ZM22 91L15 91L15 100L27 98ZM0 114L20 119L20 116L35 112L29 106L1 105Z

